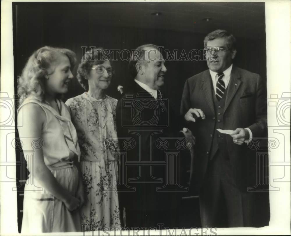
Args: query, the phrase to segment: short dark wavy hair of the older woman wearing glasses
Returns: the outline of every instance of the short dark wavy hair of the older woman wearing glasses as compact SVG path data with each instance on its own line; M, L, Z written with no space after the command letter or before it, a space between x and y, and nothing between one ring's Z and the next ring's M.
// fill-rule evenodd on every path
M109 56L104 53L102 47L91 49L83 55L81 63L78 66L77 79L85 91L89 89L87 76L90 74L93 65L103 64L109 59Z

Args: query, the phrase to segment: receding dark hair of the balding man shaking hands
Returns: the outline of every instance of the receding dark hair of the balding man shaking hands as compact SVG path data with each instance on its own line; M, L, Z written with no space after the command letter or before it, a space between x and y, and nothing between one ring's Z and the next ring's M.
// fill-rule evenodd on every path
M129 63L128 63L128 69L129 69L130 74L132 75L133 78L135 78L137 75L137 70L135 67L136 63L137 62L145 63L144 60L141 61L141 59L145 58L145 48L157 49L159 51L158 46L155 44L144 44L144 45L137 47L132 52L132 55L131 55L131 57L129 59Z

